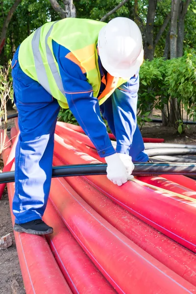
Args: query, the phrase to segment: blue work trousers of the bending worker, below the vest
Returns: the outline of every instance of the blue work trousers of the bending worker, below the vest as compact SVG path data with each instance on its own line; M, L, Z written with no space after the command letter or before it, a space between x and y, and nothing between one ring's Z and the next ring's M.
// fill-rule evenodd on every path
M25 223L41 219L46 209L59 104L38 82L21 70L18 50L12 60L14 100L20 129L15 156L15 195L12 208L15 222ZM111 122L109 106L109 103L105 104L105 118ZM115 135L112 123L110 127ZM138 128L133 141L130 151L132 158L147 161Z

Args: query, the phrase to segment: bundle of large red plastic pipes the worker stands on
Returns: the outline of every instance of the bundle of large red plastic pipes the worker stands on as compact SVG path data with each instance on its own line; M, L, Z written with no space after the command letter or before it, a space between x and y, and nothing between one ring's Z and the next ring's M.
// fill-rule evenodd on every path
M57 124L53 164L100 164L88 137L71 137L62 126ZM54 233L47 243L15 235L26 293L195 293L196 182L178 175L173 180L178 177L181 185L163 175L122 187L105 175L53 178L44 220ZM13 189L9 183L10 204Z

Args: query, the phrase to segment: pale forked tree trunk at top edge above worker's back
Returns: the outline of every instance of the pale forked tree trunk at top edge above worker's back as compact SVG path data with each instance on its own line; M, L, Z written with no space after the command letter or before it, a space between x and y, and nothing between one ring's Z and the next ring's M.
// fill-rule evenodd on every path
M61 19L67 17L76 17L76 9L73 0L63 0L64 8L58 3L57 0L49 0L52 8L58 13Z

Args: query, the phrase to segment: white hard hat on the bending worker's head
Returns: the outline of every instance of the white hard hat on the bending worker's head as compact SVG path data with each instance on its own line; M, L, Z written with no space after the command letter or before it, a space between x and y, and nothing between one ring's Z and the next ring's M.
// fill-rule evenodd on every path
M99 32L98 53L102 66L112 76L132 77L144 56L139 27L128 18L114 18Z

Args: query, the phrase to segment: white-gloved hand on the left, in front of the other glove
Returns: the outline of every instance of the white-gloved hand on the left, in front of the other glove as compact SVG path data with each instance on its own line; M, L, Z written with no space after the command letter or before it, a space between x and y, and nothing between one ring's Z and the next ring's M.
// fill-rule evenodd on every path
M127 182L127 171L118 153L105 157L107 163L107 178L118 186Z

